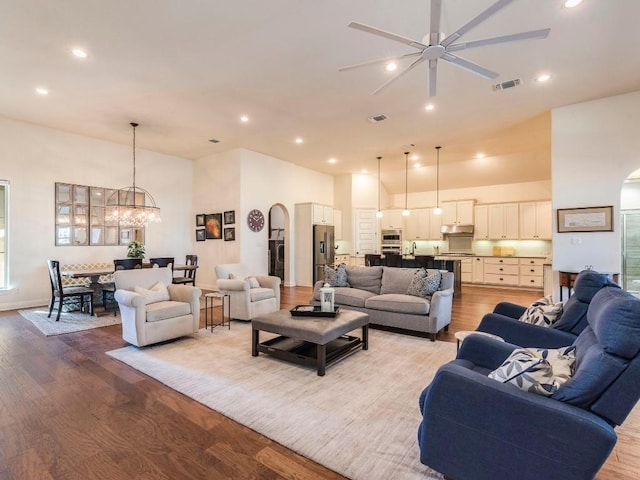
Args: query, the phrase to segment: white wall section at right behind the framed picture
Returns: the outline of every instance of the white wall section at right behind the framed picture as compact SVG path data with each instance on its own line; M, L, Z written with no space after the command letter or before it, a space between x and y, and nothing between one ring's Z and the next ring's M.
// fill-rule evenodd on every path
M640 92L554 109L551 154L554 211L614 207L613 232L554 233L553 269L620 272L620 192L640 167Z

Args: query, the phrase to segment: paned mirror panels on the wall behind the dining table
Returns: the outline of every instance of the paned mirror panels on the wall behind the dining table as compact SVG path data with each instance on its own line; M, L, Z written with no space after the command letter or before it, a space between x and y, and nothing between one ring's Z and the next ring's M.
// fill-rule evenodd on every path
M56 183L56 238L58 246L128 245L144 243L144 228L120 227L106 220L118 205L119 190L70 183ZM121 199L122 202L125 199ZM142 205L144 197L136 198Z

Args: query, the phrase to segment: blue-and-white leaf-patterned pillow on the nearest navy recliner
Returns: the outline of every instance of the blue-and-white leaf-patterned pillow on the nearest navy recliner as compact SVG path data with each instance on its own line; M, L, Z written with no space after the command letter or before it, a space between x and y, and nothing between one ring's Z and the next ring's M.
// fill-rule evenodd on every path
M553 395L571 378L576 347L516 348L489 378L511 383L525 392Z

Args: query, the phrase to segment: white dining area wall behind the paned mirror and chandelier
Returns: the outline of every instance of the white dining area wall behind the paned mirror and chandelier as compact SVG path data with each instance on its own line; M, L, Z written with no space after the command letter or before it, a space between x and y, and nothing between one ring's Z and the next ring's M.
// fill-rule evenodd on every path
M144 126L137 135L144 136ZM49 302L48 259L71 264L126 257L126 246L55 246L54 184L123 188L132 183L132 166L131 145L0 118L0 176L11 183L11 289L0 295L0 310ZM191 161L137 149L136 166L136 184L149 190L162 214L162 223L147 228L147 258L184 261L193 238Z

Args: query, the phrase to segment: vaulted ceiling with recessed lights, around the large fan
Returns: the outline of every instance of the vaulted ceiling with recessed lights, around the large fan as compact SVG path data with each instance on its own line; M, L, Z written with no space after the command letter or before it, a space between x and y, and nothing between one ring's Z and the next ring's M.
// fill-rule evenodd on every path
M444 35L493 3L442 0ZM123 144L136 121L139 148L195 159L243 147L335 175L375 174L382 156L390 193L404 191L405 151L423 165L409 191L434 188L436 145L446 188L549 179L550 109L640 88L640 2L562 3L515 0L483 22L463 40L551 32L459 52L495 81L440 62L429 99L424 64L377 95L382 66L338 71L414 51L347 25L421 40L427 0L0 0L0 115Z

